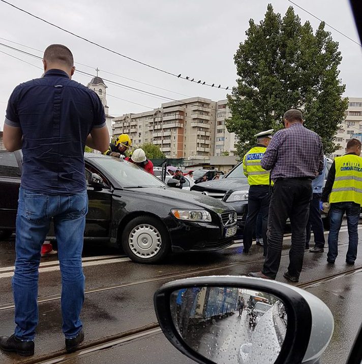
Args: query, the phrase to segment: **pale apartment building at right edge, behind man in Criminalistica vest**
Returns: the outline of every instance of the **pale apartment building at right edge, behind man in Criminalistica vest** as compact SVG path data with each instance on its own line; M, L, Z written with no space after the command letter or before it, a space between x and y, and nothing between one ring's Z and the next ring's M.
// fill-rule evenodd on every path
M348 97L349 104L346 111L346 118L341 123L335 137L335 143L340 147L333 154L328 155L329 158L339 157L345 154L347 142L356 135L358 139L362 133L362 97Z

